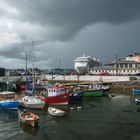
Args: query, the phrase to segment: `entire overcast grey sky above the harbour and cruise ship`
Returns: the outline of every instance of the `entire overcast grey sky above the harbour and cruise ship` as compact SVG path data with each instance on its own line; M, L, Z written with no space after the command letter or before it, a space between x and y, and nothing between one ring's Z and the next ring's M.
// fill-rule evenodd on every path
M0 0L0 67L73 68L140 52L139 0Z

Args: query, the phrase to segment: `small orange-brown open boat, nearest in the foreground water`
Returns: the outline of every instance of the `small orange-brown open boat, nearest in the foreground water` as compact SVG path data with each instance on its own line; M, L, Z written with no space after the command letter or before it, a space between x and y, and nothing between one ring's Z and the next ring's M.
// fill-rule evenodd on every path
M39 123L39 116L27 111L24 109L23 111L18 110L19 115L19 123L21 124L28 124L32 127L38 126Z

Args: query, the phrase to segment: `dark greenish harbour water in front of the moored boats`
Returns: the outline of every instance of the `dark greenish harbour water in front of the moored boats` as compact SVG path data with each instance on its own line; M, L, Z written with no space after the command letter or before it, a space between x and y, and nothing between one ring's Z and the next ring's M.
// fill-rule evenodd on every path
M17 111L0 110L0 140L139 140L140 106L134 95L113 95L70 104L63 117L32 110L40 117L38 128L20 125Z

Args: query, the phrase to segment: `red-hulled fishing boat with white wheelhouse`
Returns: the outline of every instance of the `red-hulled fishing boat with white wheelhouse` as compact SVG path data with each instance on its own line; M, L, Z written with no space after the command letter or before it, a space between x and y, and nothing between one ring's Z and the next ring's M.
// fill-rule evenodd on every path
M51 105L68 105L69 94L63 87L53 86L48 88L47 96L39 96L39 98L47 104Z

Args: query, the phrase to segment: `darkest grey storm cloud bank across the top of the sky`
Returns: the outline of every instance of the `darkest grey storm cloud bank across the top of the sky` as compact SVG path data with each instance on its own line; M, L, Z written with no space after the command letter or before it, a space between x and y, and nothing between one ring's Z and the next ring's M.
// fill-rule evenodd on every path
M52 39L69 40L99 22L122 24L140 18L139 0L7 0L19 20L54 29ZM44 28L45 29L45 28Z

